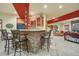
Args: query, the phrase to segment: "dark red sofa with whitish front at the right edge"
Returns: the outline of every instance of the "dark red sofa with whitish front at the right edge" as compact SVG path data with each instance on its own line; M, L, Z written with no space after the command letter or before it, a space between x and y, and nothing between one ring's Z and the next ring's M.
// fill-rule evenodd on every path
M79 33L75 32L65 32L64 40L71 41L74 43L79 43Z

